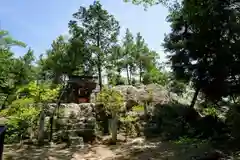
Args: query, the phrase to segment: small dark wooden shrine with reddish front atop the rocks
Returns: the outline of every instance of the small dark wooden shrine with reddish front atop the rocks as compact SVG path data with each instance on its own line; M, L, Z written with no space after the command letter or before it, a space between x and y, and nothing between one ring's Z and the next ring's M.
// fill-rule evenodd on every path
M91 93L97 86L96 80L94 76L69 76L62 102L89 103Z

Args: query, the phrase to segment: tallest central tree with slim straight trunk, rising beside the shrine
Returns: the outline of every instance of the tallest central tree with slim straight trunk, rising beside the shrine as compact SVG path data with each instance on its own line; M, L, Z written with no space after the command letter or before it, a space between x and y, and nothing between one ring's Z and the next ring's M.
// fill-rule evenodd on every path
M111 47L117 42L119 34L119 23L102 8L99 1L95 1L89 8L80 7L78 12L73 14L74 21L70 24L76 25L80 22L86 36L92 57L98 71L99 85L102 89L102 71L106 65L107 56L111 53Z

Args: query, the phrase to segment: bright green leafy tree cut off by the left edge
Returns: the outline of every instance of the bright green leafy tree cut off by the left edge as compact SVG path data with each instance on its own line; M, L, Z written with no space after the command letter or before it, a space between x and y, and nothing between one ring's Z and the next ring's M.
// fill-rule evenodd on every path
M12 46L25 47L26 45L13 39L7 31L0 30L0 93L6 96L2 108L9 95L14 93L16 85L22 84L22 78L19 75L26 75L24 73L26 70L23 69L24 61L14 57L11 51Z

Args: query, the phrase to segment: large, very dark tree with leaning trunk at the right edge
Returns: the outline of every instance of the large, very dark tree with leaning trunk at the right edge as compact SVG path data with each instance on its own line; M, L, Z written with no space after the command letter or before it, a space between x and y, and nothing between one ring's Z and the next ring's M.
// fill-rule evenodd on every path
M176 77L196 89L191 107L200 91L211 100L239 94L239 18L234 0L184 0L168 17L164 46Z

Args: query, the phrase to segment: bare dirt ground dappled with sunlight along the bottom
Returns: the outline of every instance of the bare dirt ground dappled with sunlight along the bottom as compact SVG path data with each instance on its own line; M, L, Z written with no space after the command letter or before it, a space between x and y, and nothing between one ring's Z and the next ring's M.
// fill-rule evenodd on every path
M187 160L210 149L206 144L185 146L159 139L135 138L114 146L95 144L83 149L64 144L44 147L5 145L4 160Z

